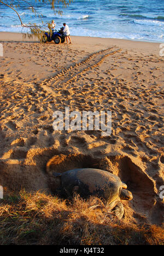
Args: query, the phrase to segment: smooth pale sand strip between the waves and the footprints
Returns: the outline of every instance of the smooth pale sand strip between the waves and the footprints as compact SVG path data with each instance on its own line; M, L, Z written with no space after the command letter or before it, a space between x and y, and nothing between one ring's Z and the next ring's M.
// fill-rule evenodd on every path
M38 43L38 38L23 38L22 33L15 32L0 32L0 42L20 42L20 43ZM79 50L88 49L89 53L93 51L99 51L103 49L107 49L109 45L118 46L121 49L125 49L127 51L136 50L139 51L140 54L154 54L157 57L160 57L160 44L154 42L141 42L136 40L128 40L128 39L113 39L113 38L101 38L101 37L83 37L83 36L71 36L72 38L72 46L69 45L69 48L75 48ZM63 47L65 44L56 45L54 42L46 43L45 45L54 45L56 48ZM94 50L93 50L94 49Z

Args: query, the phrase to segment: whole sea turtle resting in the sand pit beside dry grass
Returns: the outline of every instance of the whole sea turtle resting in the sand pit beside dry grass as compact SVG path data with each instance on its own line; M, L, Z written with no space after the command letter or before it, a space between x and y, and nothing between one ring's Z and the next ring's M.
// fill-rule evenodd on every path
M127 185L114 174L95 169L80 168L67 172L53 173L60 181L58 193L70 197L74 193L83 198L97 196L105 199L110 210L114 210L116 216L121 219L124 214L124 206L121 200L132 200L132 193L127 189Z

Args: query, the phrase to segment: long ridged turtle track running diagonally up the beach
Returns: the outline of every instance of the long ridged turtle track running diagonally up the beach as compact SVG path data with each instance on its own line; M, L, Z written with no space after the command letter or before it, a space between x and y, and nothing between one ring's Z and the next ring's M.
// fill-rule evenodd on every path
M113 50L112 50L113 49ZM60 88L61 86L75 81L79 75L84 74L92 68L95 68L106 59L109 55L113 55L118 53L121 49L110 47L105 50L98 51L86 57L83 61L75 64L74 66L70 66L67 69L64 69L62 72L55 75L55 77L51 77L50 79L44 80L40 86L43 86L44 89L47 89L46 86L50 88ZM48 91L50 91L48 89Z

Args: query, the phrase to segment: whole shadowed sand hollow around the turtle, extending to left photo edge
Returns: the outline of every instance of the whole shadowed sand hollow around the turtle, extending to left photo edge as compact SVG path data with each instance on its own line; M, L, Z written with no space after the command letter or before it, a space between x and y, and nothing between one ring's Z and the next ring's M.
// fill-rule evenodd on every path
M127 184L127 189L133 194L130 205L138 216L142 218L143 214L150 218L152 223L162 221L161 206L159 203L154 205L156 191L153 180L144 172L139 160L128 156L70 154L50 148L30 149L26 152L17 148L4 154L0 168L0 184L9 190L20 191L25 188L26 191L40 190L48 194L55 194L56 178L52 175L54 172L62 173L74 168L109 171Z

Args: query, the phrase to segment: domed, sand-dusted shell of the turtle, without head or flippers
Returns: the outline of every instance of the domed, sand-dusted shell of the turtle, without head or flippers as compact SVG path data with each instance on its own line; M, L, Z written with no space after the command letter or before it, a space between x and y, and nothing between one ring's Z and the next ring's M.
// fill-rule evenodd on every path
M103 197L110 203L118 199L122 182L118 176L95 168L80 168L62 173L61 188L67 196L72 196L75 187L83 198L94 195Z

